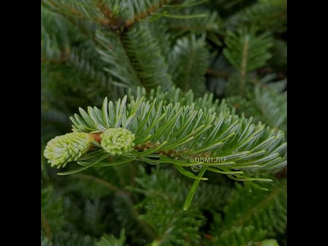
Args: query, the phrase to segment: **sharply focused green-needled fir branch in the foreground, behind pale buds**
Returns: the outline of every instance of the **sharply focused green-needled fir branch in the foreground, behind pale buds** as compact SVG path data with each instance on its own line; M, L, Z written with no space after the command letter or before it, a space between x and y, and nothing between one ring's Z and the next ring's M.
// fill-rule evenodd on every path
M152 164L172 163L183 175L196 179L184 206L188 209L200 180L184 167L202 165L200 174L206 170L215 171L235 180L272 181L244 176L244 170L275 169L286 163L279 157L285 149L282 133L275 134L261 124L255 126L248 119L227 113L216 116L214 109L194 110L193 107L181 107L180 104L163 106L163 101L156 103L156 98L147 102L144 98L137 98L130 104L126 103L127 96L119 99L116 105L112 101L108 103L106 98L102 110L89 107L87 113L80 108L81 116L75 114L71 117L73 129L91 134L117 129L116 141L127 143L131 135L137 149L121 152L121 156L115 157L106 148L101 148L103 141L106 144L108 142L106 134L101 134L101 145L97 143L95 151L77 161L83 167L60 175L76 173L92 166L119 165L135 159ZM133 134L130 132L128 136L123 130L132 131ZM140 147L148 142L149 147ZM47 155L52 156L48 152ZM56 153L55 157L60 157L60 153Z

